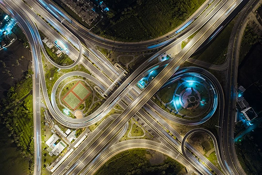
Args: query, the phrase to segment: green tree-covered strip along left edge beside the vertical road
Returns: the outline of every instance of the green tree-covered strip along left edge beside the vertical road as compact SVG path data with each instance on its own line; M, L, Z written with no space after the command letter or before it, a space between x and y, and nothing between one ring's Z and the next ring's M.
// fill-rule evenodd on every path
M25 74L25 79L17 82L0 101L0 122L9 130L8 137L21 149L23 157L29 159L30 172L33 172L33 71Z

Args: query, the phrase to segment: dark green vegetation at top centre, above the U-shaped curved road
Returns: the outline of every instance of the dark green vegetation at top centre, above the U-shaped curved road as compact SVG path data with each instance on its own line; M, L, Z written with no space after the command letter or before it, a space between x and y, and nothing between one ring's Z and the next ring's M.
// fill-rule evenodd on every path
M170 32L205 0L105 0L110 11L93 32L111 39L140 41Z

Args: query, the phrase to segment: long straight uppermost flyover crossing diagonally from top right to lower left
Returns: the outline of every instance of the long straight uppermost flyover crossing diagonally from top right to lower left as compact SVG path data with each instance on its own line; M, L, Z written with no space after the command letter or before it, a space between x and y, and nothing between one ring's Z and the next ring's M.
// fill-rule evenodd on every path
M104 147L115 133L127 123L130 118L161 88L169 77L178 69L178 67L192 54L197 48L214 32L219 24L231 13L235 6L240 2L227 3L222 8L220 13L217 13L205 25L197 35L186 45L186 47L177 55L176 59L172 60L160 74L134 99L134 101L123 111L122 114L103 132L103 134L89 147L87 154L88 162L91 157L95 157L98 152Z

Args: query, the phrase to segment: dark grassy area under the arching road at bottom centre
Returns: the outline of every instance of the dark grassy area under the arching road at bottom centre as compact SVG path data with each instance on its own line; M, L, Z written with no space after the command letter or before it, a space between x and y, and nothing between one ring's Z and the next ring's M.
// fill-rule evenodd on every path
M146 149L123 151L109 159L95 175L179 175L185 167L176 160L164 156L163 161L154 164L156 153ZM152 162L152 163L151 163Z

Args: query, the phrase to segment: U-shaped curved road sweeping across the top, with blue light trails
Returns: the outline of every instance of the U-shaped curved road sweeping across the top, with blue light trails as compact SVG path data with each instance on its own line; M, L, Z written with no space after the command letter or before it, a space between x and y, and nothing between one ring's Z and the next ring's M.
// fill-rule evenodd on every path
M76 22L70 16L68 16L63 10L60 9L51 0L37 0L44 8L46 8L49 13L59 21L63 21L64 25L79 36L81 36L85 41L92 42L103 48L114 50L118 52L144 52L147 50L157 49L165 45L170 44L177 39L181 33L186 33L190 28L201 21L206 14L213 10L213 6L216 5L218 0L206 0L203 5L185 22L183 22L179 27L169 32L166 35L160 36L155 39L140 41L140 42L120 42L110 40L98 35L93 34L90 30L83 27L81 24ZM50 8L50 5L54 8ZM211 4L211 5L210 5ZM65 19L65 20L64 20ZM68 22L69 21L69 22ZM77 29L77 30L76 30Z

